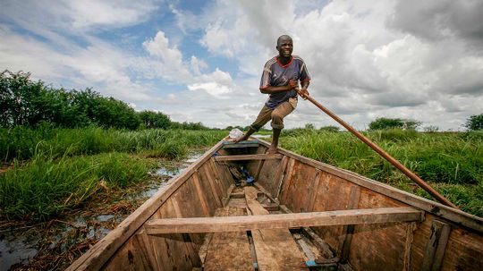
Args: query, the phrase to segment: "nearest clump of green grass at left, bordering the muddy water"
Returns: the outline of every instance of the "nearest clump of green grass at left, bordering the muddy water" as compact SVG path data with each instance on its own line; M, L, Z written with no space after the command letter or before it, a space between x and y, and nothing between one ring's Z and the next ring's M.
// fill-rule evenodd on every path
M45 221L106 189L146 180L153 167L146 158L115 152L59 159L36 154L26 165L0 174L2 216Z

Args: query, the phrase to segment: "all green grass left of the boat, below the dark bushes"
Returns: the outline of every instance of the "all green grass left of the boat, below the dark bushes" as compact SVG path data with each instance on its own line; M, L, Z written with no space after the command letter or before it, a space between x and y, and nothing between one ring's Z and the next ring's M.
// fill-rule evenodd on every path
M190 148L214 145L225 131L0 130L0 155L11 165L0 174L0 213L45 221L81 207L108 190L148 179L151 157L179 159Z

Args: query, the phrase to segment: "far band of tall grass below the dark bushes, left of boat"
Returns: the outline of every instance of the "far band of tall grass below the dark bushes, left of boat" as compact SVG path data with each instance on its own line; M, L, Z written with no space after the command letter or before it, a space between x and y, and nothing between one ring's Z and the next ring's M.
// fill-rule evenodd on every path
M70 156L148 151L157 157L179 158L186 154L187 148L211 146L226 133L161 129L123 131L94 126L81 129L15 127L0 129L0 157L7 162L15 158L26 160L33 157L36 150L62 157L69 150Z

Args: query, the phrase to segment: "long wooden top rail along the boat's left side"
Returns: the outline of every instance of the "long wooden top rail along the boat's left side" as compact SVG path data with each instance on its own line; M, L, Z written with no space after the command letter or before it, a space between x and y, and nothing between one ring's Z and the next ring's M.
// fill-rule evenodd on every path
M165 189L158 191L153 197L144 202L131 216L128 216L105 238L98 241L92 249L84 253L72 263L66 270L99 269L106 261L114 255L125 241L131 238L142 224L152 216L163 203L193 174L193 172L210 159L213 153L223 146L219 141L213 148L210 148L198 162L190 165L182 174L171 179Z

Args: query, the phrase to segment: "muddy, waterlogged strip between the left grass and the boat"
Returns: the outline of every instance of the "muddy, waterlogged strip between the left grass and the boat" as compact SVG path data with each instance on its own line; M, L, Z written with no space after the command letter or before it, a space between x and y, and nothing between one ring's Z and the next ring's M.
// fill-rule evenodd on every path
M202 153L193 151L182 161L159 161L147 182L106 191L109 197L101 195L45 223L0 221L0 271L64 270Z

